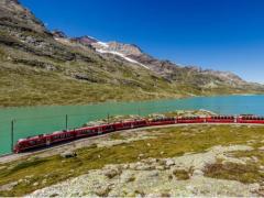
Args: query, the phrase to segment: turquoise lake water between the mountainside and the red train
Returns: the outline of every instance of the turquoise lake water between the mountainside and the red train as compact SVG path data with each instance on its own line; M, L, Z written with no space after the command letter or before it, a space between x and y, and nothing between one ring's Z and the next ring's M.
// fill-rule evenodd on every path
M51 133L82 125L87 121L113 114L150 114L174 110L211 110L221 114L253 113L264 116L264 96L197 97L178 100L117 102L87 106L54 106L0 109L0 155L11 152L11 120L14 142L20 138Z

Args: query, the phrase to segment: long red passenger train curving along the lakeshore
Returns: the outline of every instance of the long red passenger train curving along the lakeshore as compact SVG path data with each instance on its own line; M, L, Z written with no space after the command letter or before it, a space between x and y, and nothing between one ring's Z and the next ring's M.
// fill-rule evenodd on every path
M96 127L85 127L68 131L58 131L51 134L41 134L28 139L21 139L16 142L13 152L21 153L32 148L50 146L81 138L96 136L111 133L114 131L144 128L152 125L165 125L177 123L262 123L264 118L254 116L213 116L213 117L170 117L161 119L142 119L124 122L116 122Z

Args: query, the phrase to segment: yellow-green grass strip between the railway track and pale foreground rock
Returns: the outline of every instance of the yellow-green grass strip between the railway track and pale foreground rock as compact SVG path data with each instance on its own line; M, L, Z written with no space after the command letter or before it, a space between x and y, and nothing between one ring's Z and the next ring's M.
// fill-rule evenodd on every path
M22 196L35 189L85 174L89 169L101 168L107 164L136 162L140 154L144 154L143 158L173 157L187 152L205 152L215 145L246 144L250 140L255 141L254 145L257 147L263 146L261 141L264 140L264 127L197 125L155 129L147 132L156 135L156 139L135 141L111 147L94 145L78 150L76 158L65 160L56 155L45 158L30 157L23 162L2 164L0 166L0 186L18 180L20 183L11 191L0 191L0 196ZM112 139L119 139L119 135L113 135ZM263 153L258 153L257 157L262 157L260 163L264 165ZM238 170L238 174L233 173L235 168L232 167L231 170L222 168L222 170L213 173L216 168L212 167L211 174L208 174L208 176L249 183L263 179L254 168L251 170L250 167L250 179L244 180L244 176L240 174L241 169ZM242 168L242 170L244 169ZM187 179L185 173L175 174L182 179Z

